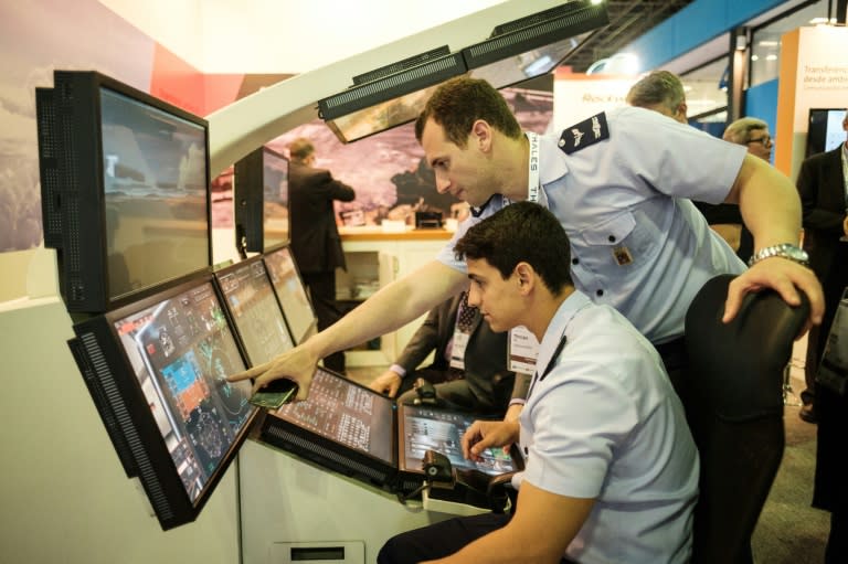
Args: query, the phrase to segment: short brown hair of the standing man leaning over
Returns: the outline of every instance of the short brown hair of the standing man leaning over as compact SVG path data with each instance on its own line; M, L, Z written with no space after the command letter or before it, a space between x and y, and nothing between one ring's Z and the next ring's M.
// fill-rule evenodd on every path
M486 81L457 76L442 84L430 97L415 120L415 138L421 142L427 119L442 126L448 141L465 148L471 126L483 119L507 137L518 139L521 126L507 100Z

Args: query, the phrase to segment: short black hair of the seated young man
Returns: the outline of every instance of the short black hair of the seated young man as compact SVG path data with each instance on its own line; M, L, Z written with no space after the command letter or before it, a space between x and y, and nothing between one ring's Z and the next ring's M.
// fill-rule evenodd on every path
M518 263L528 263L554 295L573 285L569 236L559 220L539 204L507 205L471 226L454 253L457 259L485 258L504 279Z

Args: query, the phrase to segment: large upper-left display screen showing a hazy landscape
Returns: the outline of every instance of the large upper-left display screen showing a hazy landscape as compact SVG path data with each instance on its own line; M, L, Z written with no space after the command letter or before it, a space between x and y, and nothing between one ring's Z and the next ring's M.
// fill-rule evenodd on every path
M206 130L100 87L112 299L209 266Z

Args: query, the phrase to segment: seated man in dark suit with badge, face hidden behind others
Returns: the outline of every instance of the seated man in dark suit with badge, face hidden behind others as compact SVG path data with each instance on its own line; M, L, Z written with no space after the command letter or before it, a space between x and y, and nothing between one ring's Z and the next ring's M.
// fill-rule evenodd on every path
M443 405L486 416L517 416L529 376L507 370L508 332L492 332L480 310L468 306L467 294L433 308L394 364L371 389L400 403L412 403L417 377L435 384ZM435 351L433 363L417 366ZM507 408L509 407L509 413Z

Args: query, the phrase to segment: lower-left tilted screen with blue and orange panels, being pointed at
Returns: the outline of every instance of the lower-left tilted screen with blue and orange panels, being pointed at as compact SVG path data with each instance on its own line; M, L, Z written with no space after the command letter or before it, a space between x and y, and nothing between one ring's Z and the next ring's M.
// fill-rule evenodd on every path
M189 498L194 501L256 409L211 281L115 321Z

